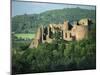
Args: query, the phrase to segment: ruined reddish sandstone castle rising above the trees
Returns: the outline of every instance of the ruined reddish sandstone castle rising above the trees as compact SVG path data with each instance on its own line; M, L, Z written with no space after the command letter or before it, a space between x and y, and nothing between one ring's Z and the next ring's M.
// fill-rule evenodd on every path
M63 24L49 24L46 27L41 25L37 29L36 36L31 42L29 48L37 48L40 43L52 43L52 41L55 40L53 35L58 32L61 34L60 38L65 41L82 40L87 38L90 23L91 20L86 18L74 22L73 25L71 25L69 21L64 21Z

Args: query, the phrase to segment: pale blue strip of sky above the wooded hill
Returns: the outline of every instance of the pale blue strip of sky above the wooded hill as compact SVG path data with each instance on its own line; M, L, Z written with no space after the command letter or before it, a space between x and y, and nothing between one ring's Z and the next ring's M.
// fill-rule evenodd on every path
M54 3L36 3L36 2L19 2L12 1L12 16L23 14L39 14L48 10L76 8L95 10L95 6L89 5L71 5L71 4L54 4Z

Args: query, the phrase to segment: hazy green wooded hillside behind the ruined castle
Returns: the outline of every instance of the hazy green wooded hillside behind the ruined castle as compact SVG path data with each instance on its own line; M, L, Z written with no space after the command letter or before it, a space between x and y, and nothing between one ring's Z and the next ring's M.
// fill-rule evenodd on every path
M24 14L12 17L12 32L34 33L39 25L50 23L63 23L64 20L70 22L81 18L91 18L95 21L95 10L81 8L64 8L49 10L40 14Z

